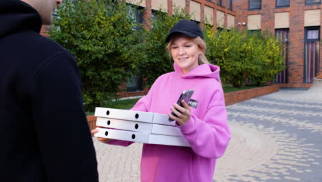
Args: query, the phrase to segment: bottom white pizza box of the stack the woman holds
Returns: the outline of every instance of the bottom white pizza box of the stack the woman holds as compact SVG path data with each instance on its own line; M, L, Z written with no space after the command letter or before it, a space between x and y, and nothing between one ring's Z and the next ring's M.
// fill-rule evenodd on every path
M98 133L94 134L94 136L96 137L118 139L123 141L133 141L139 143L190 147L188 141L186 141L186 139L182 136L169 136L162 134L151 134L146 132L133 132L106 128L96 129L99 130Z

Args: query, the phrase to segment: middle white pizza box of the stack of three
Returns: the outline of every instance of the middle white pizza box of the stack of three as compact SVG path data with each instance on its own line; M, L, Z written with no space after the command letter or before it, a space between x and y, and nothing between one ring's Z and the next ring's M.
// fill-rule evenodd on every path
M171 126L171 125L159 125L155 123L144 123L139 121L110 119L110 118L103 118L103 117L97 118L96 125L103 126L105 128L130 130L133 132L148 132L153 134L182 136L181 130L176 126Z

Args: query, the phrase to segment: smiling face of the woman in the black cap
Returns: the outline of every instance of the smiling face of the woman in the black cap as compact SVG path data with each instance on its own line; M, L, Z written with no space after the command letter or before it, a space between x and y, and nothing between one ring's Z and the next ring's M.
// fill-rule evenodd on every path
M198 66L198 57L202 51L197 43L194 43L188 37L174 37L170 48L173 60L184 74Z

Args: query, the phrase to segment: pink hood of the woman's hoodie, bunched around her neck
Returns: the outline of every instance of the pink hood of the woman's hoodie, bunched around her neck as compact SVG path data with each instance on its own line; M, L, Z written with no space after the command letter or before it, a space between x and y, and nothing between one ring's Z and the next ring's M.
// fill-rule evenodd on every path
M213 78L220 82L219 72L220 68L217 65L202 64L198 65L193 70L184 74L177 63L173 63L175 75L183 79L194 79L196 77Z

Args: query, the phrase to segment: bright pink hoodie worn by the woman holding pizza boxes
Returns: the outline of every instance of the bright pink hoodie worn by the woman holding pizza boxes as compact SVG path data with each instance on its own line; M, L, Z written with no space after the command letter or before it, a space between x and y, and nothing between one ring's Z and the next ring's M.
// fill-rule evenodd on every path
M141 181L213 181L216 159L224 154L230 140L219 67L203 64L186 74L176 63L174 68L175 72L159 77L132 110L167 114L182 90L194 90L191 99L199 104L191 108L191 118L184 125L177 125L191 148L144 144ZM109 144L127 146L131 142L114 140Z

